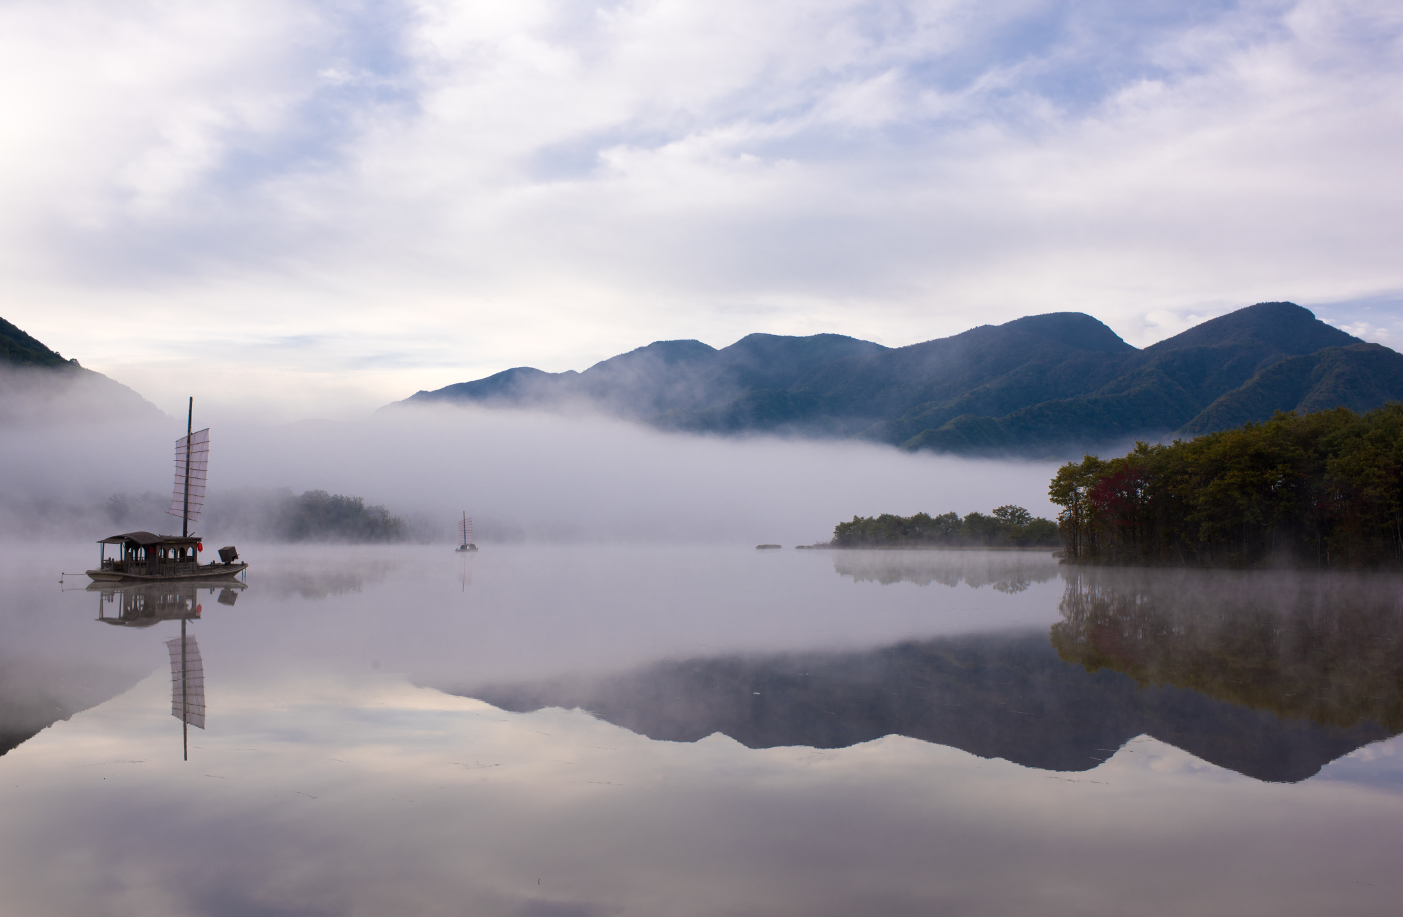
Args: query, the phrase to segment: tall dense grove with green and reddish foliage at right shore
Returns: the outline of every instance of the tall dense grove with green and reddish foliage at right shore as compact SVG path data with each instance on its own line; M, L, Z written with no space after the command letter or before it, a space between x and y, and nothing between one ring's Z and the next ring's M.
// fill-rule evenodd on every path
M1080 564L1403 566L1403 404L1086 456L1049 496Z

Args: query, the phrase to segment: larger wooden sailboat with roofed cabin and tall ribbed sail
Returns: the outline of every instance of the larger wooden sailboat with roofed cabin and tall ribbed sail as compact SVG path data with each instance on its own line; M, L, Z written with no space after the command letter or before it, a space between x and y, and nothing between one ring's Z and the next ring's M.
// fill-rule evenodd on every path
M217 564L201 564L205 544L189 533L189 523L199 519L205 505L205 478L209 471L209 428L192 430L195 398L189 400L185 436L175 440L175 491L166 512L180 516L180 536L128 531L98 541L97 569L87 571L90 579L164 580L227 578L248 569L233 547L219 548ZM107 545L119 545L116 557L107 555Z

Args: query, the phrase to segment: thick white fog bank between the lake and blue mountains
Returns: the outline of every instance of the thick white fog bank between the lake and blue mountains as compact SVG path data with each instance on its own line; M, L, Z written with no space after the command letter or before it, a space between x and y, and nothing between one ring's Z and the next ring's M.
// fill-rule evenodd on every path
M1052 516L1055 461L906 454L853 442L665 435L623 421L473 408L365 422L209 425L210 505L240 488L323 489L383 503L421 537L448 540L463 512L480 543L826 541L854 515ZM88 538L118 526L115 494L168 495L174 419L10 426L0 443L4 536ZM160 505L160 499L153 501ZM173 516L122 530L178 530ZM201 527L196 531L205 534ZM215 540L220 533L208 533Z

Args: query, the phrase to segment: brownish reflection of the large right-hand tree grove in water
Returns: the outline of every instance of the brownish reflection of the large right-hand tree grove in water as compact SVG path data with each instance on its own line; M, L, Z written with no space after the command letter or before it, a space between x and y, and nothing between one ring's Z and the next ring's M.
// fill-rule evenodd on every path
M1285 719L1403 731L1403 578L1385 573L1068 573L1058 655L1141 686Z

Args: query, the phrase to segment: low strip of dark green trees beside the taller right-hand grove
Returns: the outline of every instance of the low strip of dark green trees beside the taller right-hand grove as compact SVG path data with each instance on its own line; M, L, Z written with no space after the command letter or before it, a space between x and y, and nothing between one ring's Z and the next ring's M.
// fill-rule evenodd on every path
M999 506L991 515L853 516L833 526L839 548L1044 547L1058 543L1051 519L1034 517L1021 506Z

